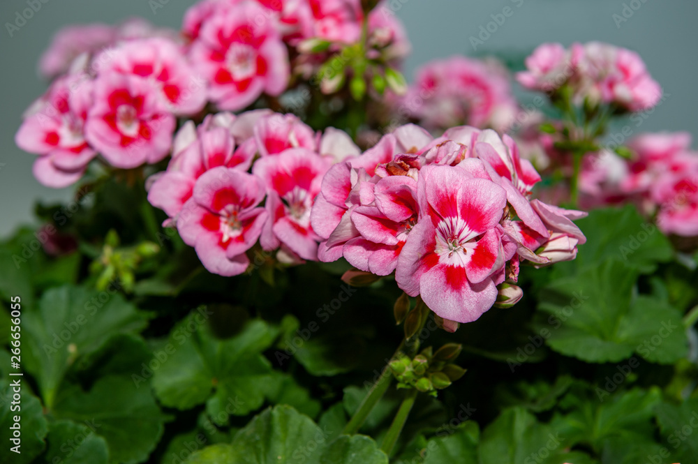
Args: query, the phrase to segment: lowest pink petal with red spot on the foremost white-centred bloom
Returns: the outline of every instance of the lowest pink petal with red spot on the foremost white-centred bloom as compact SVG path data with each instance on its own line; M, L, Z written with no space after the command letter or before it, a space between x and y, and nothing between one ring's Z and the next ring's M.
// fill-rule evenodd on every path
M492 307L497 287L491 279L470 283L463 267L438 264L419 278L422 300L434 313L456 322L473 322Z

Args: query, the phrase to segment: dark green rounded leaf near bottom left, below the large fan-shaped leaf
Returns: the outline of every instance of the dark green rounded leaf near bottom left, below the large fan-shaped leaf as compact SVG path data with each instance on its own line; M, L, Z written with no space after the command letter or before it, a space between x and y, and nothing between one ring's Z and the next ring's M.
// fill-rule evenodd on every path
M140 463L155 449L168 419L147 385L128 377L107 376L89 391L75 385L61 391L54 415L89 424L107 440L110 463Z

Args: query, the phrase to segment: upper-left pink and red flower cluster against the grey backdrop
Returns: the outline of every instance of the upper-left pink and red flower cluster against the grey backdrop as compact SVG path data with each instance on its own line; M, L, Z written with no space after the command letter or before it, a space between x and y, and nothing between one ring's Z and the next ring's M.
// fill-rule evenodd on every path
M64 36L99 28L68 30L45 55L52 69L62 70L61 59L82 50L31 105L15 136L20 148L39 155L34 174L42 184L73 184L97 154L122 169L157 163L170 153L176 118L204 107L205 82L182 45L140 22L129 24L112 31L116 37L101 49L59 46L66 45Z

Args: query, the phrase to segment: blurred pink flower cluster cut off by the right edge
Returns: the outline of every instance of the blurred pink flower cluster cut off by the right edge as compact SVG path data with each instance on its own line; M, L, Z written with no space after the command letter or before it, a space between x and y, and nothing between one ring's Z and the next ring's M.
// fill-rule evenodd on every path
M648 133L628 142L625 160L604 152L588 158L581 188L588 205L633 202L666 234L698 236L698 152L688 133Z

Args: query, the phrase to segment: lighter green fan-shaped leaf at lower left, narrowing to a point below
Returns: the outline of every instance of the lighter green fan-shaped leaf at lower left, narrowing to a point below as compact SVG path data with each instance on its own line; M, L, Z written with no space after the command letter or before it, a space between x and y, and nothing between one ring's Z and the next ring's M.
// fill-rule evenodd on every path
M91 292L84 287L52 288L36 310L22 314L27 330L24 367L34 374L47 407L53 406L61 380L73 361L103 347L117 334L140 331L142 313L115 292Z

